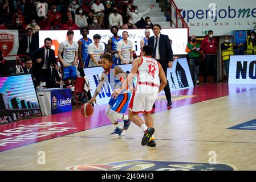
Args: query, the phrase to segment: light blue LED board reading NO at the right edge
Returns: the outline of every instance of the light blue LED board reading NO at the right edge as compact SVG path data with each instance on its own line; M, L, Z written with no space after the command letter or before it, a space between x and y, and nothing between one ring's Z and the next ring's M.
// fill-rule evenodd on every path
M256 84L256 56L230 56L229 84Z

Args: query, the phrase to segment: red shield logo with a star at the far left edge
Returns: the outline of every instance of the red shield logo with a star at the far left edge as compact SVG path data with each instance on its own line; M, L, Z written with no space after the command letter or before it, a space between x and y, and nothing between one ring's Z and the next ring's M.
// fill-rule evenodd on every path
M7 56L13 51L14 35L8 33L0 33L0 49L3 56Z

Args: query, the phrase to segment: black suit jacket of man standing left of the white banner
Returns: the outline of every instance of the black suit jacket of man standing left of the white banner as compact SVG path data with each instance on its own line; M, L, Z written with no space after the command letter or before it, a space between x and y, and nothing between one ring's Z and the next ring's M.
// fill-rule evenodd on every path
M31 38L31 43L29 48L30 54L33 53L36 49L38 49L38 39L36 38L36 36L33 35ZM23 36L21 43L19 44L18 55L26 55L26 51L27 51L27 36Z

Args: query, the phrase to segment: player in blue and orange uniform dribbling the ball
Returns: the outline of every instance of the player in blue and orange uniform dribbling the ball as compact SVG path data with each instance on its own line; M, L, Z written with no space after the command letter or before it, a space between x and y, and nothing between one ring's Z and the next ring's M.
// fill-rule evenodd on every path
M119 88L119 86L122 84L121 81L124 81L127 77L127 73L125 73L120 67L113 64L112 55L110 53L104 53L101 55L101 66L104 69L104 72L101 73L101 81L97 85L94 96L90 101L87 102L89 104L92 104L93 102L96 103L96 97L101 92L101 88L105 82L109 82L112 90L114 91L115 88ZM128 115L125 115L124 113L128 107L130 98L131 93L129 93L127 89L124 89L122 92L120 92L118 97L111 97L109 100L106 113L109 121L111 121L116 127L113 133L110 134L110 137L124 135L125 130L128 129L131 121L129 120ZM117 119L123 119L123 129L121 129Z

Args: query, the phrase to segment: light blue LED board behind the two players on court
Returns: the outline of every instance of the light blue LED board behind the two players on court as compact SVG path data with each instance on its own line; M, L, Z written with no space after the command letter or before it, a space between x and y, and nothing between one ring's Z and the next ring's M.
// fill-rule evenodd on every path
M123 69L124 72L130 72L132 69L132 64L124 64L119 65ZM103 72L102 67L94 67L94 68L84 68L84 73L90 82L91 94L94 95L95 89L100 82L100 75ZM167 80L169 81L170 90L180 90L185 88L193 87L193 81L190 75L188 62L186 58L177 59L173 62L172 69L167 69ZM137 84L137 78L133 78L134 85ZM111 94L113 90L108 82L105 82L101 92L96 97L97 104L108 104L109 99L111 98ZM164 91L159 93L164 94Z

